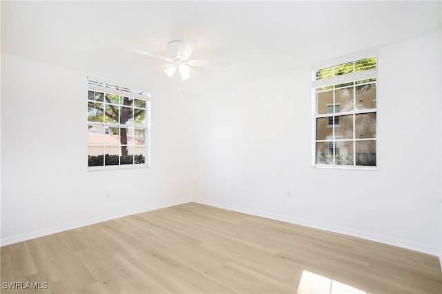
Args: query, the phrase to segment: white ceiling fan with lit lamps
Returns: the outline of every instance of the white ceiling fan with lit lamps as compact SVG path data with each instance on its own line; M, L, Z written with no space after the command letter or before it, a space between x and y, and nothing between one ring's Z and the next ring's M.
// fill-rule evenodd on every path
M227 67L230 66L230 63L227 61L211 61L204 59L189 59L195 50L197 41L195 39L184 39L184 40L173 40L167 43L167 48L169 48L169 57L165 57L162 55L157 55L152 52L146 52L143 50L133 49L133 51L147 55L150 57L155 57L158 59L162 59L164 61L168 61L169 64L162 66L164 68L164 72L170 78L175 75L175 72L178 70L180 72L180 77L184 81L189 79L193 74L193 66L204 66L204 67Z

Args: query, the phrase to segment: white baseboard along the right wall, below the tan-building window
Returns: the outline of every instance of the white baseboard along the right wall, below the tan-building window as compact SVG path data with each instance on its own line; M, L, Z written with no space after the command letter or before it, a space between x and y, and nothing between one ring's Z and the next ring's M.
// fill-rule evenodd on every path
M249 215L256 215L259 217L267 217L269 219L276 219L276 220L280 220L282 222L289 222L291 224L298 224L300 226L307 226L309 228L318 228L320 230L324 230L324 231L329 231L329 232L333 232L333 233L339 233L339 234L343 234L343 235L349 235L352 237L358 237L361 239L367 239L369 241L374 241L374 242L380 242L383 244L388 244L388 245L392 245L392 246L397 246L397 247L401 247L401 248L405 248L405 249L410 249L412 251L418 251L421 253L426 253L429 255L434 255L436 257L439 257L439 263L442 262L442 255L441 252L439 250L437 250L436 248L429 248L427 246L422 246L421 244L414 244L412 242L407 242L401 239L395 239L392 237L387 237L387 236L383 236L383 235L376 235L376 234L372 234L372 233L366 233L363 231L356 231L356 230L351 230L348 228L342 228L339 226L329 226L327 224L320 224L320 223L316 223L316 222L309 222L309 221L305 221L303 219L296 219L294 217L287 217L284 215L275 215L272 213L265 213L263 211L258 211L258 210L251 210L248 208L242 208L242 207L238 207L238 206L230 206L230 205L226 205L226 204L221 204L219 202L212 202L212 201L207 201L204 199L193 199L193 202L196 203L200 203L200 204L205 204L205 205L209 205L209 206L215 206L218 208L224 208L224 209L229 209L229 210L234 210L237 211L239 213L247 213Z

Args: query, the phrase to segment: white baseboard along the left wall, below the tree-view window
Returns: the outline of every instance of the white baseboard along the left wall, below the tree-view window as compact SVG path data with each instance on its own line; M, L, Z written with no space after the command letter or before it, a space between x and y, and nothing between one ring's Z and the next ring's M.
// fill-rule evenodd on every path
M143 208L139 208L139 209L135 209L135 210L128 210L128 211L124 211L122 213L116 213L113 215L106 215L104 217L98 217L95 219L88 219L83 222L74 222L71 224L66 224L63 226L55 226L55 227L44 229L41 231L35 231L32 233L26 233L26 234L17 235L14 237L7 237L4 239L2 238L0 241L0 246L6 246L6 245L18 243L18 242L23 242L23 241L26 241L29 239L34 239L34 238L43 237L46 235L51 235L51 234L60 233L63 231L72 230L73 228L81 228L82 226L89 226L91 224L98 224L99 222L106 222L108 220L117 219L119 217L126 217L128 215L136 215L137 213L145 213L147 211L156 210L156 209L160 209L160 208L166 208L169 206L175 206L178 204L184 204L184 203L188 203L188 202L192 202L192 201L193 201L192 199L183 199L183 200L179 200L179 201L166 202L163 204L157 204L157 205L153 205L153 206L145 206Z

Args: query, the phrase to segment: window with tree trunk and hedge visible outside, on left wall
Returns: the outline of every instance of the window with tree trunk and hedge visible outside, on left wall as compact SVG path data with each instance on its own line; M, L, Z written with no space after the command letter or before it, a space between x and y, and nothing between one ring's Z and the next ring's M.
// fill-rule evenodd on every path
M88 168L146 167L150 144L150 95L88 81Z

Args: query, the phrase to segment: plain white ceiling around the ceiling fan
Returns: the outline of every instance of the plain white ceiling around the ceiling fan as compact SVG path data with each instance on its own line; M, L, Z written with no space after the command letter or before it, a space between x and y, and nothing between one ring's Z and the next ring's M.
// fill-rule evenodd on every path
M441 28L441 1L1 1L1 52L198 94ZM230 61L169 79L166 43L193 38L192 59ZM419 53L419 52L416 52Z

